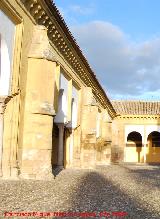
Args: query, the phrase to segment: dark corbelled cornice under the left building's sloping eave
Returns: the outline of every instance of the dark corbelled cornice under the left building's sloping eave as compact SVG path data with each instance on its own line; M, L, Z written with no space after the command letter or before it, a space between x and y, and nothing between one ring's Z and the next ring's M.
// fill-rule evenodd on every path
M115 117L116 112L110 100L98 82L55 4L50 0L20 1L35 22L39 25L44 25L47 28L50 41L72 66L86 86L93 89L94 95L98 97L104 108L107 108L110 115Z

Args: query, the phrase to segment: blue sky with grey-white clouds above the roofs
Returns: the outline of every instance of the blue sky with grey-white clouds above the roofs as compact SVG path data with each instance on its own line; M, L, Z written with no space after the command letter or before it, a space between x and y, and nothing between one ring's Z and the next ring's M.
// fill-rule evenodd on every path
M111 99L160 100L160 0L54 0Z

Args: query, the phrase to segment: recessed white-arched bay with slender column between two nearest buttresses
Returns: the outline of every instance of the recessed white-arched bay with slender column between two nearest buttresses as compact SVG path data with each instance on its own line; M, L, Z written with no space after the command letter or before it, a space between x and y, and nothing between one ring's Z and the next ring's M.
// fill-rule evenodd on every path
M71 81L63 74L63 70L59 78L59 88L53 128L56 132L53 132L52 137L53 172L59 167L67 168L73 164L77 136L75 129L78 124L79 91L74 85L71 87Z

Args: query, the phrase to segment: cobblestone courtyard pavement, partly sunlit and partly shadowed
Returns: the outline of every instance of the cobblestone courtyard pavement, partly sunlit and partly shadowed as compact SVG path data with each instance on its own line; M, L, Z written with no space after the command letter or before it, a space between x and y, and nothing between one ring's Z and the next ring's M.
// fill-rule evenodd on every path
M0 180L0 219L5 211L95 212L92 218L160 219L160 166L108 165L63 170L51 181ZM99 217L99 212L117 211L128 216Z

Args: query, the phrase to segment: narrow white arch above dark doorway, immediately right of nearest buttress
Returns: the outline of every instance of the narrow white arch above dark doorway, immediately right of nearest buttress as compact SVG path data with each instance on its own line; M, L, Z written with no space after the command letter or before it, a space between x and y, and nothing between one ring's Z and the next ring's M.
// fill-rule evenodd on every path
M62 70L62 69L61 69ZM54 118L54 127L56 133L52 136L52 166L54 169L63 169L66 167L66 144L68 139L68 131L66 124L68 123L68 105L69 105L69 80L63 73L60 73L57 112Z

